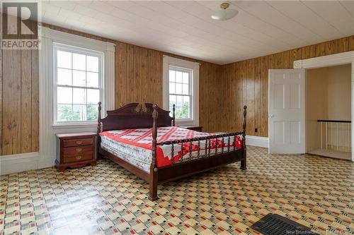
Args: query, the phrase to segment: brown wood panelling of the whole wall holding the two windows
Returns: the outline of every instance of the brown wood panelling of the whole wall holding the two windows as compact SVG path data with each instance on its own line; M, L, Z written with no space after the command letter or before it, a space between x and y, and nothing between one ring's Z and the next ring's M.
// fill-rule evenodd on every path
M162 105L162 56L164 54L76 30L42 24L62 32L116 44L115 107L129 102ZM188 59L190 61L197 61ZM221 66L200 63L200 125L217 131L221 123L218 88ZM0 50L0 155L39 151L38 51Z

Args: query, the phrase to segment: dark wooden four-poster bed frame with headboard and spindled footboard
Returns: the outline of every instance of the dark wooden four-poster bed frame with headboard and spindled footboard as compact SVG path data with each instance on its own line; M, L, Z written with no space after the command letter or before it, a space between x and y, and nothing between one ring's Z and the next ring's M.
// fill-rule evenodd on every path
M183 178L185 176L190 176L193 174L198 174L203 171L209 171L217 167L222 167L227 164L232 164L234 162L241 161L241 169L246 169L246 109L244 106L244 120L242 131L236 133L222 133L218 135L211 135L207 137L199 138L189 138L183 140L170 140L162 143L157 143L157 127L161 126L175 126L175 107L173 105L173 117L169 116L169 111L160 109L156 104L138 104L131 103L124 107L115 109L113 111L108 111L107 116L101 119L101 102L98 103L98 126L97 126L97 157L101 159L102 156L108 157L108 159L113 162L120 164L120 166L131 171L133 174L137 175L139 178L147 181L149 183L149 199L157 200L157 185L165 183L167 181L173 181L176 179ZM103 124L101 128L101 123ZM112 130L122 130L130 128L152 128L152 164L150 166L150 172L147 173L135 165L126 162L120 157L107 152L101 148L101 136L99 133L101 131L112 131ZM228 145L230 145L230 137L234 137L236 141L236 135L242 135L242 145L241 149L236 149L236 143L233 143L232 147L227 147L227 151L224 147L216 147L212 149L211 140L212 139L222 139L227 140ZM183 159L182 161L173 162L167 167L157 167L156 162L156 147L158 145L171 145L171 152L173 155L174 145L183 143L198 143L200 146L200 141L205 141L205 150L198 150L198 157L193 158L192 152L189 152L188 159ZM190 147L192 145L189 145ZM198 147L199 148L199 147ZM177 150L178 151L178 150ZM180 151L183 155L183 149ZM200 152L205 153L205 155L200 155Z

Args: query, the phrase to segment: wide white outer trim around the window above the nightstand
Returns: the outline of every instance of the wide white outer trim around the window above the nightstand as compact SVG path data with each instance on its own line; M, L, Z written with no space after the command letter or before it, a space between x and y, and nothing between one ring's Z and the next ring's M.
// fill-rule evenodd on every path
M77 123L75 125L53 126L53 42L82 47L104 53L104 104L101 115L115 108L115 44L102 42L59 32L50 28L38 27L40 35L39 51L39 102L40 102L40 157L38 169L52 167L57 155L57 133L97 131L97 123Z

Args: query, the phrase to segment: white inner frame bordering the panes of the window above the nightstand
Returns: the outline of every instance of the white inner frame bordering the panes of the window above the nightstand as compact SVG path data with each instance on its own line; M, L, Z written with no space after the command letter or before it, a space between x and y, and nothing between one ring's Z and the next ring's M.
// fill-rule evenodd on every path
M98 90L100 90L100 101L104 99L104 58L103 52L86 49L83 47L74 47L68 44L53 42L53 126L68 126L77 124L93 124L97 121L57 121L57 51L85 54L98 57ZM72 78L73 79L73 78ZM75 88L75 86L69 86ZM79 88L79 87L78 87ZM85 89L87 89L85 87ZM104 104L103 104L104 105Z

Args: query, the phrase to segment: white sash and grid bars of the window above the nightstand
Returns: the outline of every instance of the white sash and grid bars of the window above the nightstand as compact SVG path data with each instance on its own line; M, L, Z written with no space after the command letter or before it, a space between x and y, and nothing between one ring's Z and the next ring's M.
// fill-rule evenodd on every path
M62 68L62 67L58 67L57 66L57 52L58 51L62 51L62 52L69 52L69 53L76 53L76 54L83 54L85 56L95 56L98 57L98 72L93 72L91 70L89 70L87 68L87 61L86 61L86 70L79 70L79 69L74 69L73 68L73 60L72 60L72 68ZM86 57L87 58L87 57ZM76 104L76 102L74 103L72 101L72 104L64 104L64 105L71 105L72 107L74 105L83 105L86 108L90 105L98 105L98 104L92 104L92 103L88 103L87 102L87 91L88 90L99 90L99 100L103 100L104 94L103 94L103 68L104 68L104 53L103 52L98 52L98 51L93 51L91 49L85 49L85 48L81 48L81 47L73 47L67 44L60 44L57 42L53 42L53 123L54 125L70 125L72 124L78 124L78 123L96 123L96 121L58 121L58 117L57 117L57 107L60 104L64 104L64 103L59 103L57 102L57 98L58 98L58 94L57 94L57 88L79 88L79 89L84 89L86 92L86 103L85 104ZM87 86L87 76L86 76L86 82L85 82L85 86L78 86L78 85L59 85L57 83L57 75L58 75L58 68L62 68L62 69L67 69L69 71L71 71L72 73L72 84L73 84L73 71L84 71L85 73L89 72L89 73L98 73L98 87L89 87ZM72 95L73 96L73 95ZM87 112L87 110L86 110ZM87 114L86 114L87 115ZM86 116L87 119L87 116Z

